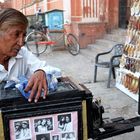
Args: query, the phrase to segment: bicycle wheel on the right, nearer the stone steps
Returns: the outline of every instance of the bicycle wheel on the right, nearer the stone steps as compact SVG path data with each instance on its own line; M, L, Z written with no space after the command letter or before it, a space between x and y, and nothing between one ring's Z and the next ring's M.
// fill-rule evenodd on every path
M80 44L73 34L68 34L66 37L66 46L72 55L77 55L80 52Z

